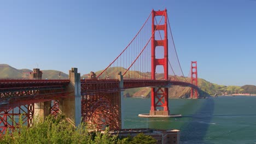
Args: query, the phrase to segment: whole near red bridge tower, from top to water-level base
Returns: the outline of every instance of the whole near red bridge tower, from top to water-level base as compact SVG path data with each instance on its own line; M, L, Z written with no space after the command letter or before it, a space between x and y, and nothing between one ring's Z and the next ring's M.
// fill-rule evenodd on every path
M155 16L164 16L164 25L155 25ZM155 33L160 33L164 31L163 40L155 40ZM156 58L155 50L156 47L164 47L164 58ZM151 39L151 79L155 80L156 66L162 65L164 67L164 79L168 80L168 39L167 39L167 10L154 11L152 10L152 39ZM160 111L156 109L160 107ZM160 115L168 116L168 87L154 87L151 88L151 107L150 107L150 116Z

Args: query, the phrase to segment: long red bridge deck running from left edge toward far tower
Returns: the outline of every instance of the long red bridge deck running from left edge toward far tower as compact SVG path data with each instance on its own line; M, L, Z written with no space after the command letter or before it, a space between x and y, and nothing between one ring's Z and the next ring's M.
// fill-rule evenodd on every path
M0 80L0 110L65 97L69 80ZM125 79L124 89L137 87L170 87L195 85L182 81ZM81 80L81 94L123 91L117 79ZM40 92L39 92L40 91Z

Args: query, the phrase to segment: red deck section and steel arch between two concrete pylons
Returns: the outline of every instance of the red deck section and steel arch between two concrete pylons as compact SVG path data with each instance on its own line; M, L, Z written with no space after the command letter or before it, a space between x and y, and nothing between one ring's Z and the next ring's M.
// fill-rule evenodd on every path
M119 80L81 80L82 121L91 129L121 126Z

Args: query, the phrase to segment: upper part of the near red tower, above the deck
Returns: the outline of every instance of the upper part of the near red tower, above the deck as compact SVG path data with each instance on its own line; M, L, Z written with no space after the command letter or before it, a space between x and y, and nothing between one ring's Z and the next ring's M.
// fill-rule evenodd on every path
M156 16L162 16L161 20L164 19L164 25L160 25L156 21ZM156 25L155 25L156 23ZM164 31L164 39L156 40L155 33ZM160 47L164 47L164 58L156 58L155 51ZM164 79L168 80L168 38L167 38L167 10L154 11L152 10L152 39L151 39L151 79L155 80L156 66L162 65L164 67Z

